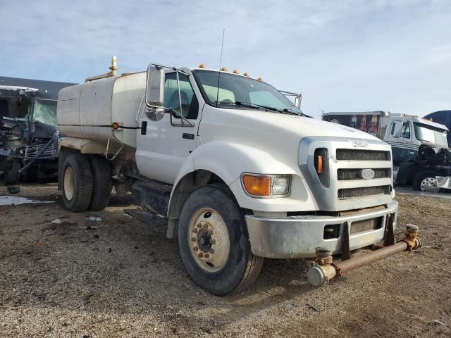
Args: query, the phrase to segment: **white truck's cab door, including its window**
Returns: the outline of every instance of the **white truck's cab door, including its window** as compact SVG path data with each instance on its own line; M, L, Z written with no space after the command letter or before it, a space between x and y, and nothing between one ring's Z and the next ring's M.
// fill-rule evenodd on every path
M137 168L141 175L168 184L175 182L178 171L194 149L197 134L199 103L188 76L179 73L178 77L182 106L175 72L166 73L163 106L181 111L193 127L175 113L166 112L161 120L151 120L142 108L138 118L141 130L137 132Z

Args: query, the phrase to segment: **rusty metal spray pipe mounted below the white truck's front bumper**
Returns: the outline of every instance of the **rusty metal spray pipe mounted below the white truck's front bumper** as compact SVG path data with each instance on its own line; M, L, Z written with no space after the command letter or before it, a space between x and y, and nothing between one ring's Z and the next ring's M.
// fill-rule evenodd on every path
M340 276L343 273L360 268L366 264L393 256L402 251L418 249L421 246L421 241L417 236L418 227L408 224L406 226L406 235L401 242L384 246L382 249L347 259L340 263L334 263L332 261L332 251L324 248L316 248L316 265L307 271L307 279L310 284L319 287L327 284L335 276Z

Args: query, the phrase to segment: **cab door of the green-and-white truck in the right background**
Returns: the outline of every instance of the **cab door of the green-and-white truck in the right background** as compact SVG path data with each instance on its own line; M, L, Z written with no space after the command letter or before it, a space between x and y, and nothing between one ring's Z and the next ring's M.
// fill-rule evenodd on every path
M412 154L412 125L409 121L393 120L387 140L392 146L393 162L409 161Z

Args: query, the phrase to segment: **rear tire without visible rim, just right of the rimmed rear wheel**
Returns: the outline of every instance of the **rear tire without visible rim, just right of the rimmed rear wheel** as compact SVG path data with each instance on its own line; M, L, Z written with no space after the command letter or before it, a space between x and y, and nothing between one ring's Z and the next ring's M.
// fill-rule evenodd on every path
M113 182L111 180L111 167L106 158L92 156L91 163L94 188L92 189L91 204L89 210L100 211L108 206Z

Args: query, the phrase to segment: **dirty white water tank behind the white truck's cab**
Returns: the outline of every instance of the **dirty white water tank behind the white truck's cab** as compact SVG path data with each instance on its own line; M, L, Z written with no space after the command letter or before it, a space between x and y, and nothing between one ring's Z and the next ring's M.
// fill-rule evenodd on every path
M63 136L136 148L135 118L145 89L145 72L63 88L58 94L58 129ZM113 130L113 123L120 127Z

